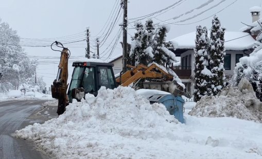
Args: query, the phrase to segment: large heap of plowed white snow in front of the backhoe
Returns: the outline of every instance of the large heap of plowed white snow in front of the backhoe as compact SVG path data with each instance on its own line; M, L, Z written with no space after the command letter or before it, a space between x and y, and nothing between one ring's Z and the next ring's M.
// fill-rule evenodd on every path
M58 118L34 123L15 136L34 140L58 158L161 158L159 142L176 138L180 128L164 105L151 105L130 87L101 87L97 97L86 94L85 99L74 100ZM150 140L153 149L148 148Z

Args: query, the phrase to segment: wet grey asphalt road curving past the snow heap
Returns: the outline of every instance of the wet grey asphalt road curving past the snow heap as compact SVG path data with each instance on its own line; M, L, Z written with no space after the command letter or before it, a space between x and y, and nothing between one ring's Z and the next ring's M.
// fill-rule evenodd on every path
M51 158L34 147L30 140L11 136L34 122L56 117L55 107L43 107L45 101L6 101L0 103L0 158Z

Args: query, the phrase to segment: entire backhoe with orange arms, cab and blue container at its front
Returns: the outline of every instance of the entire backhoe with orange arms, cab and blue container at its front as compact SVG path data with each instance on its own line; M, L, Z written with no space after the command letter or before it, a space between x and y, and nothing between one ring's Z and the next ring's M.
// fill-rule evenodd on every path
M153 95L148 98L150 102L166 103L164 105L166 105L170 114L175 115L179 112L179 116L183 117L183 99L181 95L184 94L184 89L176 81L172 81L173 76L158 65L152 64L148 67L142 64L136 67L128 65L131 70L115 79L112 63L85 58L73 62L74 70L68 87L68 58L70 51L59 42L55 42L52 45L54 44L62 48L62 51L55 50L61 52L61 58L58 65L57 78L51 85L52 97L58 99L58 115L64 113L66 105L72 102L73 99L80 101L88 93L97 96L101 86L105 86L107 89L114 89L117 85L129 86L141 79L151 79L150 82L143 82L145 89L166 91L172 95L169 95L168 98L167 95L158 95L156 98ZM66 93L67 90L68 92Z

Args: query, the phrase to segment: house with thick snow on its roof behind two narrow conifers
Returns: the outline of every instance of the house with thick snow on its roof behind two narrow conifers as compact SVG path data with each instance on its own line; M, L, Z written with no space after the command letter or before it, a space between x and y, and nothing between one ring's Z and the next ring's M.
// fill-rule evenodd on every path
M181 66L173 67L174 72L179 76L185 84L186 89L191 94L194 90L193 75L194 75L194 48L196 32L184 34L183 36L174 38L170 41L178 43L176 50L172 50L176 56L181 57ZM231 32L225 31L225 58L224 68L225 76L231 77L234 73L234 67L239 59L243 56L249 56L255 40L246 32Z

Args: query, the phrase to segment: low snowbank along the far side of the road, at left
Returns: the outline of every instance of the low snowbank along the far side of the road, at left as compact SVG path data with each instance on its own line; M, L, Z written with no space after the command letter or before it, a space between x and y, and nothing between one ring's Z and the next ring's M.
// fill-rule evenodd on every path
M10 90L7 93L0 93L0 101L9 100L54 100L51 95L39 92L22 93L20 90Z

